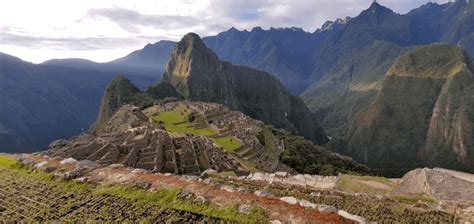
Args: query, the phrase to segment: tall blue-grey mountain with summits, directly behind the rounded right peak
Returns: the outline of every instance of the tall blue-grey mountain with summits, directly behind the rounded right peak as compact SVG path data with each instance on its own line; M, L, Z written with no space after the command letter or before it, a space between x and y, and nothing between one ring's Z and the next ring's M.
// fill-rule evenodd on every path
M354 118L374 100L393 61L419 45L444 42L474 54L473 3L428 3L399 15L373 3L314 47L314 83L302 99L333 137L347 137ZM312 82L313 82L312 81Z

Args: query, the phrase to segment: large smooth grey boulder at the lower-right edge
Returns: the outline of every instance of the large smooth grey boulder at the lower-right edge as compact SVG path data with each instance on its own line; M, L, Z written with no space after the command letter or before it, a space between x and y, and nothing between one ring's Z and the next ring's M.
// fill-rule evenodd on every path
M403 176L394 193L431 195L437 200L474 201L474 175L446 169L416 169Z

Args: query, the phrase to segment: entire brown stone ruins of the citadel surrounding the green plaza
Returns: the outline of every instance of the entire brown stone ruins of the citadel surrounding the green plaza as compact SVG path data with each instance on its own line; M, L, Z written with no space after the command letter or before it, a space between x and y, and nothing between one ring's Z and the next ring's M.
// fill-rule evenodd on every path
M145 115L173 111L179 105L184 105L193 116L202 118L204 125L218 134L209 137L178 137L156 128ZM125 105L107 122L103 132L55 141L50 144L46 154L174 174L197 175L208 168L247 173L249 170L241 164L242 160L254 163L257 169L265 172L295 173L279 162L278 157L284 150L282 140L273 136L272 145L265 149L257 139L263 125L261 121L215 103L168 102L144 111ZM235 150L236 153L229 153L212 140L212 137L221 136L233 136L242 146Z

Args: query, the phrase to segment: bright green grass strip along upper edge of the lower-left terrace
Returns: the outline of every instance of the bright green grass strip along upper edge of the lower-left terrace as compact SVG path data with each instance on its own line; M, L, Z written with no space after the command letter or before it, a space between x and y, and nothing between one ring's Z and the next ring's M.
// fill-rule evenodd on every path
M0 156L0 175L2 170L15 171L18 175L21 175L21 177L25 177L25 180L33 179L35 181L41 181L44 184L60 186L64 189L65 193L80 193L89 190L92 194L107 194L125 198L130 200L131 203L137 203L137 206L140 204L155 204L164 208L189 211L241 223L266 222L266 217L261 208L255 207L250 210L250 214L243 214L238 212L237 205L222 207L208 203L186 201L178 197L181 192L179 188L159 189L156 192L150 192L129 186L97 186L90 183L63 181L54 178L52 173L46 174L33 170L5 156Z

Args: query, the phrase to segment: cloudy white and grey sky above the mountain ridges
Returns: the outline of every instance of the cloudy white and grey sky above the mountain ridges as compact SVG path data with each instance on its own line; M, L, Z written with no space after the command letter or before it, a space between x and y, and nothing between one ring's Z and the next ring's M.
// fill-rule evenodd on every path
M373 0L0 0L0 52L41 63L106 62L147 43L235 27L300 27L357 16ZM432 0L445 3L448 0ZM428 0L378 0L405 14Z

